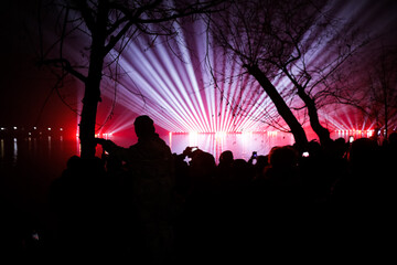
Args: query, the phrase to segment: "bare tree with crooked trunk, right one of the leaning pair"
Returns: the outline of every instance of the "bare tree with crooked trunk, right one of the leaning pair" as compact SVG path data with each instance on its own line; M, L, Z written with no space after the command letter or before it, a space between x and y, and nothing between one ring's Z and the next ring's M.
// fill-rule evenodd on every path
M310 9L310 15L298 17L291 22L294 25L300 23L298 30L297 26L286 30L286 42L293 44L291 56L276 59L272 63L293 84L291 95L298 95L303 102L313 131L322 145L328 145L330 131L321 124L319 109L329 104L356 102L351 91L342 85L346 80L336 83L335 78L348 61L356 59L368 39L351 30L350 23L334 19L332 10L326 7L311 6ZM286 20L293 18L293 13L287 11Z

